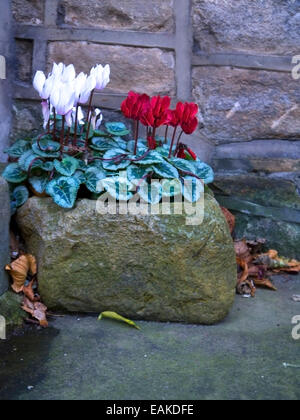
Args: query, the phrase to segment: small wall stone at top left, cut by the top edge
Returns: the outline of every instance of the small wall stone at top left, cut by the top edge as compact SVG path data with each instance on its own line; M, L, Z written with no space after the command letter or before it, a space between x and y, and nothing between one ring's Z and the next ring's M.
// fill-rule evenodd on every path
M12 13L18 23L41 25L44 22L44 0L12 0Z

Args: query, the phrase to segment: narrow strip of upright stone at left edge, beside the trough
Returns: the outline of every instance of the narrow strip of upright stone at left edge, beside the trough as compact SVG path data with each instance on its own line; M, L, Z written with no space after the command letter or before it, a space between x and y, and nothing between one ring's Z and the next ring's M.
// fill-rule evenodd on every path
M0 296L8 288L8 278L4 271L9 260L10 199L7 182L0 177Z

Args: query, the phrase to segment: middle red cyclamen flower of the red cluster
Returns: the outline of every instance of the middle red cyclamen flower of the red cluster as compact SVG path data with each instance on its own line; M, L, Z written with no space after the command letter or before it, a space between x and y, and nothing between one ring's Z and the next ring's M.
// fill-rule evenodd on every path
M160 96L153 97L148 111L140 118L141 123L153 128L168 124L171 119L170 104L171 99L169 96L165 96L164 98Z

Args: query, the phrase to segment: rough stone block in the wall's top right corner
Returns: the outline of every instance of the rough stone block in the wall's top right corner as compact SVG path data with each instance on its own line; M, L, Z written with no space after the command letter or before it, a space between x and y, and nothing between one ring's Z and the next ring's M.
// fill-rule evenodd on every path
M298 54L300 4L287 0L193 0L194 38L208 52Z

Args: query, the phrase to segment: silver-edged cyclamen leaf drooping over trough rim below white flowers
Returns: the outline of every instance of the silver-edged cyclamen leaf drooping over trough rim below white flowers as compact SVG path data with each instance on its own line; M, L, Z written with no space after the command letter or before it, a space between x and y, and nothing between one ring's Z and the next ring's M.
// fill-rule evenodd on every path
M79 186L76 178L62 176L49 182L46 191L58 206L71 209L74 207Z

